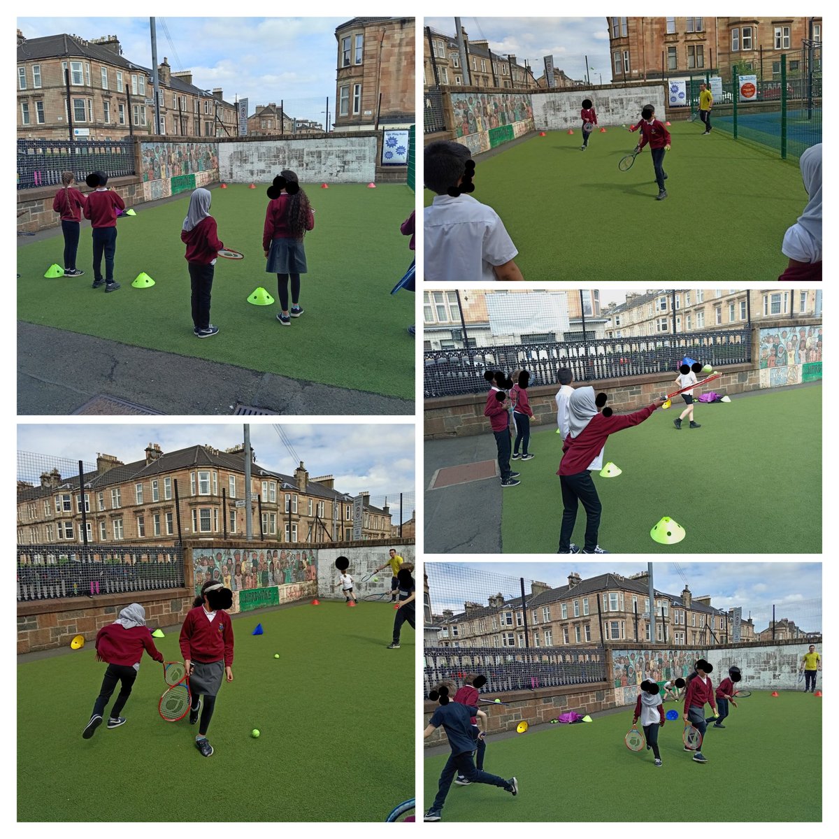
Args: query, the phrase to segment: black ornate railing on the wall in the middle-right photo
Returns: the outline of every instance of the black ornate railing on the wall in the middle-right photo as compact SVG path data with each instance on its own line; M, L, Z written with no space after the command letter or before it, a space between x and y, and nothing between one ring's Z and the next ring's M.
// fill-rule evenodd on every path
M673 373L683 357L711 367L752 360L751 328L677 335L553 341L508 347L425 350L425 397L477 393L487 388L487 370L512 373L527 369L530 386L555 384L559 367L569 367L576 382Z

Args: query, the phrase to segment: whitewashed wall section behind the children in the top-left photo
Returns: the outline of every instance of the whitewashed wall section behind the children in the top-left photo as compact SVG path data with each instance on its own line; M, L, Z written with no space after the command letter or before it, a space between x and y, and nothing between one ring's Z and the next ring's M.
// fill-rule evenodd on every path
M220 179L232 184L267 186L280 169L292 169L304 184L367 184L376 178L378 136L356 132L220 142L218 158Z

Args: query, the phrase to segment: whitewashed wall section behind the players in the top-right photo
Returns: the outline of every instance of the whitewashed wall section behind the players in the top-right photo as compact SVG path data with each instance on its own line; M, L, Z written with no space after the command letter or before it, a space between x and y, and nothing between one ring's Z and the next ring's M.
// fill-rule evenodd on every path
M580 128L583 99L591 99L597 112L597 124L605 127L627 126L638 122L644 105L655 107L655 116L665 122L667 88L664 83L622 88L585 88L534 93L533 121L536 131L567 131ZM637 135L636 135L637 136Z

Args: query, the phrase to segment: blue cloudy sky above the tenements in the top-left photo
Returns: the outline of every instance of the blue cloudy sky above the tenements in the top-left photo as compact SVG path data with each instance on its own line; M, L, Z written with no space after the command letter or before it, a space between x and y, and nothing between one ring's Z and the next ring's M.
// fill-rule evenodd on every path
M221 87L227 102L247 97L251 112L284 100L293 116L314 119L311 109L322 102L326 111L326 96L335 112L335 29L350 18L156 18L158 63L165 56L173 72L192 70L195 86ZM152 64L149 18L18 18L18 29L26 38L116 35L124 59ZM300 100L311 102L298 114Z

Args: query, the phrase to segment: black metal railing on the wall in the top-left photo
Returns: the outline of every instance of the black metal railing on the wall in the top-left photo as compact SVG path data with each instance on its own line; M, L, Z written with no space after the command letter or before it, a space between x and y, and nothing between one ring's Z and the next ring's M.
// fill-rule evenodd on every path
M133 140L18 140L18 190L60 185L65 170L80 184L96 169L134 175L135 164Z

